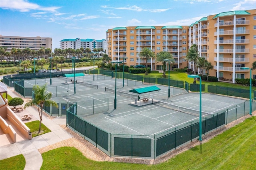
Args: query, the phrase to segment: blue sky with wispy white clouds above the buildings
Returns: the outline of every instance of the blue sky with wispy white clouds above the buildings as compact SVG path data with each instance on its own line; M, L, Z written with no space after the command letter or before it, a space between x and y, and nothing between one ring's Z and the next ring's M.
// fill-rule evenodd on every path
M189 26L203 17L256 9L256 0L0 0L0 34L106 39L125 26Z

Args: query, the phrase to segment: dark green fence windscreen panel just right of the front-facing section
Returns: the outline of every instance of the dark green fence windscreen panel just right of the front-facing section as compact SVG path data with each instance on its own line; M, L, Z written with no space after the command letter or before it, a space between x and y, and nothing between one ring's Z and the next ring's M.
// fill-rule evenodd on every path
M172 132L156 140L156 156L175 148L175 136L175 132Z

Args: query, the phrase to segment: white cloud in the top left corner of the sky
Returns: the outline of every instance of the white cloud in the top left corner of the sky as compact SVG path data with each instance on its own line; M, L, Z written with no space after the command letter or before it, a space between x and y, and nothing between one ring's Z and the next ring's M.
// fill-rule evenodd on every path
M56 12L60 7L42 7L26 0L1 0L0 8L5 10L19 10L20 12L29 12L30 10Z

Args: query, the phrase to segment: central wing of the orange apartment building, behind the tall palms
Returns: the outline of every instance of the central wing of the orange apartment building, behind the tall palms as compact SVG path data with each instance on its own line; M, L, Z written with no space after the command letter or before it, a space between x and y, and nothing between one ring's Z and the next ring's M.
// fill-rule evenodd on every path
M145 65L146 60L139 56L144 47L149 47L155 54L160 51L169 51L175 64L173 68L187 66L186 51L188 26L138 26L118 27L106 32L107 54L112 61L119 61L120 57L128 57L125 65ZM121 60L122 61L122 60ZM152 70L162 70L162 63L151 58L147 61Z

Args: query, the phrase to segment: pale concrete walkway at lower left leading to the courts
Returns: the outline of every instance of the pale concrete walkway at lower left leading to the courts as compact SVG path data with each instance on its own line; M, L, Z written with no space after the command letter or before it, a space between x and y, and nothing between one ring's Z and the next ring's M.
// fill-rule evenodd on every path
M8 95L11 97L19 97L14 92L13 88L8 88ZM26 112L33 115L34 119L40 120L38 110L34 107L27 108ZM49 118L50 117L43 115L42 123L48 127L51 132L36 136L31 140L21 140L14 144L1 146L0 160L10 158L18 154L23 154L26 160L26 166L24 169L39 170L42 166L43 159L40 152L38 152L38 149L73 137L60 127L60 125L66 125L66 117L56 117L54 119Z

